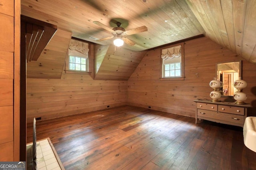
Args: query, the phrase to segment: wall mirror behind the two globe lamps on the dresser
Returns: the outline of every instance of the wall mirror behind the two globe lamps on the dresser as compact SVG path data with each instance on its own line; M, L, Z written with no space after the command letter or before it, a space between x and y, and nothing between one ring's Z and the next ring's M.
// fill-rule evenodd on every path
M217 79L223 82L222 96L233 96L236 88L233 86L235 80L242 78L242 61L230 63L217 63Z

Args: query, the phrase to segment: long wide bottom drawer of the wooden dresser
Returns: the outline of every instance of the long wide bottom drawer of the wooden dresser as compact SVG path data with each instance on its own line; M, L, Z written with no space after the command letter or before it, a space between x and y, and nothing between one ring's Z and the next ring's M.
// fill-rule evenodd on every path
M237 123L240 125L244 124L244 116L243 115L236 115L236 114L230 114L230 113L222 113L222 112L218 112L218 111L197 109L197 116L198 116L198 118L202 118L202 119L204 119L204 117L206 119L207 118L216 119L216 122L218 122L218 123L226 123L228 121L228 122Z

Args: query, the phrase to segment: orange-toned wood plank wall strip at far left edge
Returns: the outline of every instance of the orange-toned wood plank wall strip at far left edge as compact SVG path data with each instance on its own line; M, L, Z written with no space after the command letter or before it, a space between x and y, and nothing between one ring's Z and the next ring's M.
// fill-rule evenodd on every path
M20 159L20 0L0 5L0 161Z

